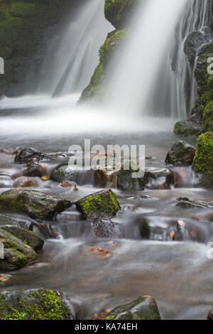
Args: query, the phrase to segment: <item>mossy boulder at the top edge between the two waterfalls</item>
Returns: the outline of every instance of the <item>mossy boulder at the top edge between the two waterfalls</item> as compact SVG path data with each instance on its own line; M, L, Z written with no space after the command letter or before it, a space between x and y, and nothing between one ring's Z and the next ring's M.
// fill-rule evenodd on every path
M125 28L138 4L143 0L105 0L104 13L107 20L116 28Z

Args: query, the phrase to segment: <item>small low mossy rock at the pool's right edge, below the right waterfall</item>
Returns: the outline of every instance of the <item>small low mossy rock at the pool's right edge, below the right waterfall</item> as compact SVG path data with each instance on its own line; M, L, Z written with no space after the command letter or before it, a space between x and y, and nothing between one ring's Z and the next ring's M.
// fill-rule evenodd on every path
M202 134L202 123L186 119L175 124L174 132L177 136L200 136Z

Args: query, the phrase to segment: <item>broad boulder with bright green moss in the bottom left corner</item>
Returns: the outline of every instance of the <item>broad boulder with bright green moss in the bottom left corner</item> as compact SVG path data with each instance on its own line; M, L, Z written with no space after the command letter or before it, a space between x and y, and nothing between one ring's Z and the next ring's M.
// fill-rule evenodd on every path
M73 320L61 291L37 289L0 293L0 320Z

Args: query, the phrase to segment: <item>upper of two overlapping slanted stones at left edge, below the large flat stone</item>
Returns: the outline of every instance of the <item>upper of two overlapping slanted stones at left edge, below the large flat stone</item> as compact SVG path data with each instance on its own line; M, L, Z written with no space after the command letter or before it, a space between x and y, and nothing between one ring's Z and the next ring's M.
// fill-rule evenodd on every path
M24 222L13 217L0 215L0 228L21 239L35 250L43 248L43 236L32 222Z

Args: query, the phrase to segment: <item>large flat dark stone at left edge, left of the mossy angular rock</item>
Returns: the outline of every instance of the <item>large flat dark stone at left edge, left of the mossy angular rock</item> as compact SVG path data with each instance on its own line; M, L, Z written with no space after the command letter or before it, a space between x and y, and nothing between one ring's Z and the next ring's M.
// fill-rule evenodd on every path
M0 204L35 220L53 220L56 214L69 208L72 201L35 190L11 189L0 195Z

